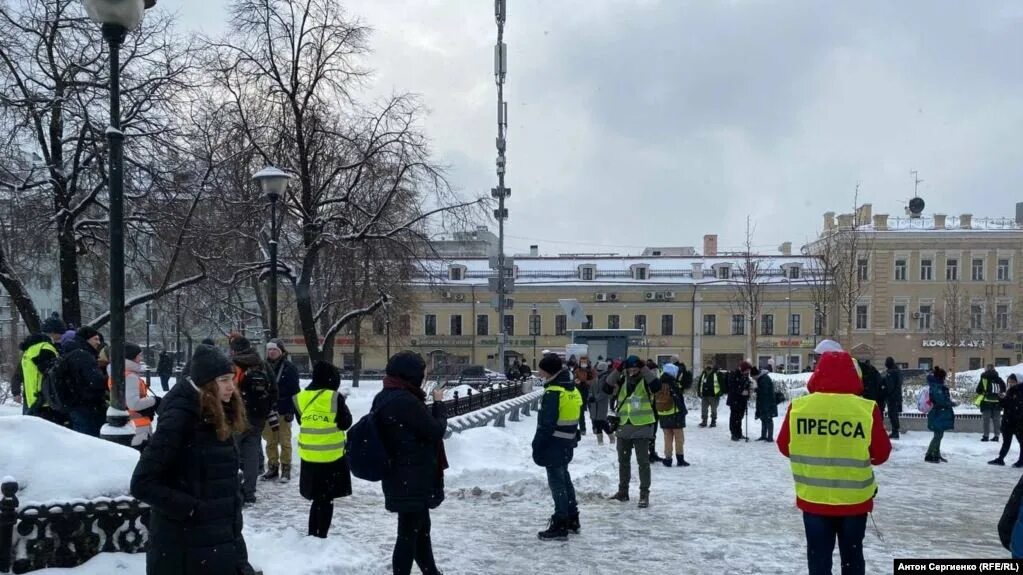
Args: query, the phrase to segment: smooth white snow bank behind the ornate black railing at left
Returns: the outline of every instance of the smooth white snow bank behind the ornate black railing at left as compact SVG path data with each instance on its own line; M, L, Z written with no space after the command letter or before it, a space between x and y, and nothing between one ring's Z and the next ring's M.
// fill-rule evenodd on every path
M0 476L23 505L128 495L138 451L23 415L0 417Z

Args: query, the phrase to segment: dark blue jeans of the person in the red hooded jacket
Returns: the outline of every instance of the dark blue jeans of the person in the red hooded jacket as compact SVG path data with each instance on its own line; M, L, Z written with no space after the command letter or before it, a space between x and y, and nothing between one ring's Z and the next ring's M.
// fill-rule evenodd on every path
M832 575L832 554L838 538L842 575L863 575L863 536L866 514L852 517L828 517L803 512L806 529L806 564L809 575Z

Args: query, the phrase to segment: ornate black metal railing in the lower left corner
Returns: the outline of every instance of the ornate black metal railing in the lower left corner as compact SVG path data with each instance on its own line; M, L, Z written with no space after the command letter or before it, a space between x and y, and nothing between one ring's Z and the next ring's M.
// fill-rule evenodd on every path
M141 552L149 507L131 497L18 508L18 485L0 485L0 573L76 567L100 552Z

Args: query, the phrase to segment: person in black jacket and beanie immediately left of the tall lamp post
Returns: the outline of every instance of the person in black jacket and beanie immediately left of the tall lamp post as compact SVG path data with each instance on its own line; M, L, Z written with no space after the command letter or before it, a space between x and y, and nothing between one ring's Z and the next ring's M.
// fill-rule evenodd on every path
M64 400L73 430L92 437L106 422L106 372L99 366L102 339L94 327L86 325L75 333L75 339L63 346L60 364L53 373L55 395ZM44 385L50 385L44 382Z

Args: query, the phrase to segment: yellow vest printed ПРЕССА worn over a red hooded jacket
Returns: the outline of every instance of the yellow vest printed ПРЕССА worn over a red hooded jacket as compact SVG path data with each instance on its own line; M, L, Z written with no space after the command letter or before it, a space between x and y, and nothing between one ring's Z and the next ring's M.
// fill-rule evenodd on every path
M877 492L871 466L875 402L813 393L792 402L789 461L796 496L824 505L856 505Z

